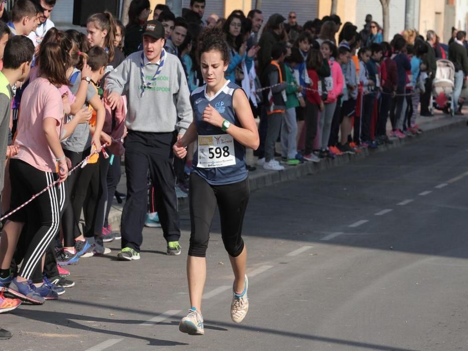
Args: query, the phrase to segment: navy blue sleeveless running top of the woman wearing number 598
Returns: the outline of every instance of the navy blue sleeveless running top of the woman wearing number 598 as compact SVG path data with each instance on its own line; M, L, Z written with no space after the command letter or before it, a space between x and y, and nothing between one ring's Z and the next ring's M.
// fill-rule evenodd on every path
M232 99L236 89L241 88L228 80L226 84L224 84L224 86L211 98L206 95L206 84L192 92L190 101L192 103L194 122L196 123L199 136L227 134L227 132L224 132L221 128L215 127L214 125L202 120L203 111L208 104L213 106L225 120L231 122L231 124L241 127L232 106ZM204 178L211 185L224 185L241 182L247 178L247 169L245 168L245 146L234 139L234 150L235 164L203 168L198 164L199 147L197 143L197 151L194 155L192 171L200 175L200 177ZM211 151L212 150L210 149L210 156L214 156L215 159L218 153L211 153ZM213 151L223 152L222 149L216 150L216 147Z

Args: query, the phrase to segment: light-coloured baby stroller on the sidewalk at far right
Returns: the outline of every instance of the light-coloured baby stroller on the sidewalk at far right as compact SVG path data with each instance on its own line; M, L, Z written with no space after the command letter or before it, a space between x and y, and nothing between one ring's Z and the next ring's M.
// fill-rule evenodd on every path
M448 109L450 115L454 115L453 91L455 90L455 66L449 60L437 60L437 71L432 81L432 94L429 104L430 112L434 108ZM443 106L440 106L442 103Z

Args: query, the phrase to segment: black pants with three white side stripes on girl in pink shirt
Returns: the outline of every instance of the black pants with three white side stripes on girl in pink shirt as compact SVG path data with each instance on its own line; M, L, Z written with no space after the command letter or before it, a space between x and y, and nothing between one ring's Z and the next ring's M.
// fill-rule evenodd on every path
M12 184L12 210L57 180L56 173L41 171L20 159L10 160L10 177ZM42 256L46 252L47 247L59 232L60 212L63 209L64 203L65 187L63 183L60 183L27 205L30 207L30 211L34 211L37 214L39 226L35 233L31 233L31 240L29 240L19 272L21 277L30 279L37 265L41 264ZM28 220L26 207L12 215L10 220L26 223Z

